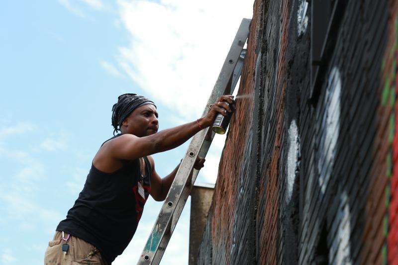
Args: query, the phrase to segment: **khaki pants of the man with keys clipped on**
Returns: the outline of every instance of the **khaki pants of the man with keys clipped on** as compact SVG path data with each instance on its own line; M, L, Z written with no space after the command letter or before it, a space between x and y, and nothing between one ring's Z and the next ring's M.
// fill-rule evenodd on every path
M64 236L66 238L68 234ZM62 240L62 232L56 231L54 239L48 243L44 256L44 265L106 265L96 247L72 235L67 241L69 250L64 260L63 244L65 244L65 241Z

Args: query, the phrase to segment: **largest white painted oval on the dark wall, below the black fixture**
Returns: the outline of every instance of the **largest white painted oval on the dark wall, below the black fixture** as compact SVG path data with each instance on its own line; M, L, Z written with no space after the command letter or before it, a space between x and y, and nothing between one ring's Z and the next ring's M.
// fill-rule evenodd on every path
M318 181L322 193L325 193L336 156L336 144L340 128L340 94L340 71L337 67L333 67L325 92L324 105L326 107L321 121L322 124L319 128L321 138L319 143Z

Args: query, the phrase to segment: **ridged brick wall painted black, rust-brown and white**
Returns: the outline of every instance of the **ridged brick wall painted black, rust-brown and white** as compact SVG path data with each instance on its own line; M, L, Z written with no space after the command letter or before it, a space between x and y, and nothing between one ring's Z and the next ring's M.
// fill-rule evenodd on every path
M398 264L398 1L253 8L198 263Z

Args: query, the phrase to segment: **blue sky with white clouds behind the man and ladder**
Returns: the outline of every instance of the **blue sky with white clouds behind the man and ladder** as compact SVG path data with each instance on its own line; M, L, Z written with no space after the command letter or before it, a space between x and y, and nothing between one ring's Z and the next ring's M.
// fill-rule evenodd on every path
M158 106L160 130L199 118L252 1L41 0L0 8L0 264L42 264L125 92ZM215 182L216 136L197 182ZM189 142L156 154L167 175ZM135 264L162 203L149 199L115 265ZM162 264L187 264L189 201ZM21 255L22 254L22 255Z

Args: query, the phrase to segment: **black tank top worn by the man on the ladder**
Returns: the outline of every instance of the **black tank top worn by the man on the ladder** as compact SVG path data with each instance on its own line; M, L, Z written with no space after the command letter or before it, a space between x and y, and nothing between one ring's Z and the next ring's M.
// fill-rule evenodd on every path
M110 265L130 243L149 196L151 167L148 158L144 160L145 198L138 193L141 178L138 159L124 161L122 168L113 173L101 172L92 164L79 198L66 219L59 223L57 231L96 246Z

